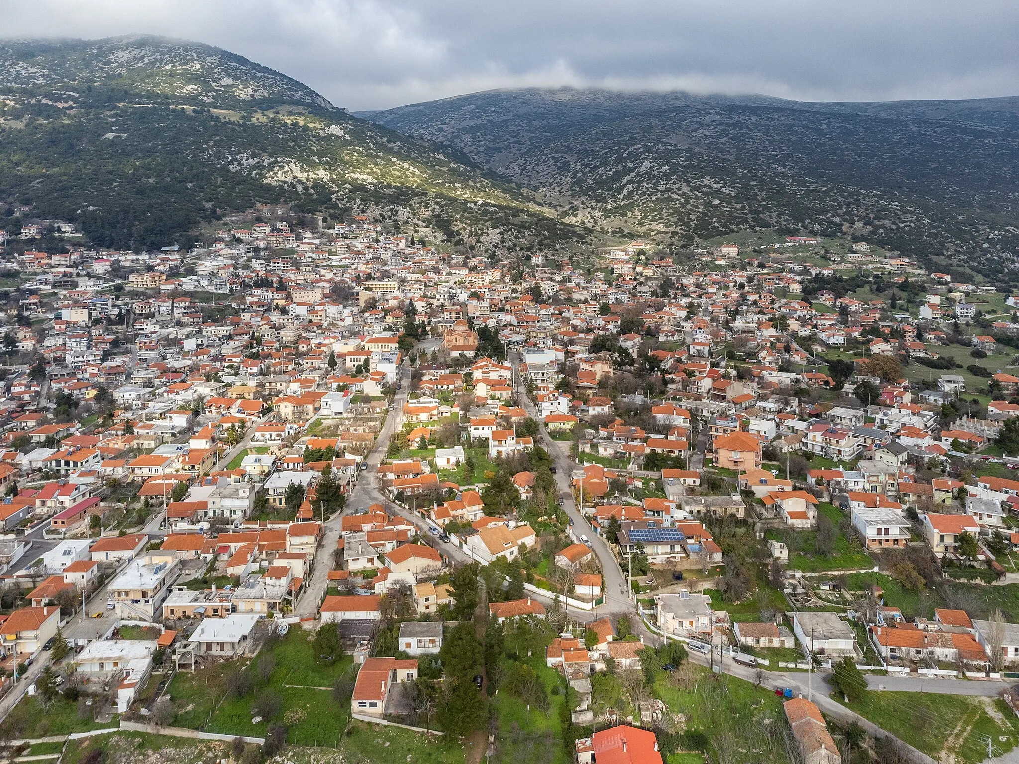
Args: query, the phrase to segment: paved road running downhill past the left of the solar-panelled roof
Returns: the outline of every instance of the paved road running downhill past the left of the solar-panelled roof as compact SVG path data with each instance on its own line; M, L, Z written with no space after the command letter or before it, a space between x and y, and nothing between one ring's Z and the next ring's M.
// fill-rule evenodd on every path
M629 587L627 587L626 578L620 569L619 563L615 561L615 555L612 554L604 539L594 533L590 524L587 522L587 519L581 514L573 500L571 473L577 469L578 466L570 459L568 454L564 451L561 444L558 441L552 440L548 431L545 429L544 423L538 416L538 412L534 404L527 397L527 393L523 392L525 388L523 380L520 377L519 353L511 353L509 363L513 366L516 387L518 390L522 391L521 397L524 400L524 410L527 412L528 416L533 417L535 421L538 422L541 435L545 439L545 448L552 457L552 462L555 465L556 488L558 489L560 495L566 494L564 496L565 500L562 508L566 509L567 515L573 521L574 533L578 536L578 538L581 534L585 534L591 542L591 549L598 557L598 563L601 566L602 587L605 593L605 604L599 608L598 614L599 616L624 613L633 614L636 612L636 606L630 600Z

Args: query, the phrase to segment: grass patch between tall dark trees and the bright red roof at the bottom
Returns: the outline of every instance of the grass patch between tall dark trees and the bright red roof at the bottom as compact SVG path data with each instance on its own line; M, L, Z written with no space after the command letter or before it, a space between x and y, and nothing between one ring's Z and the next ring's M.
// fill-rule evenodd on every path
M500 693L490 700L491 713L498 719L495 733L495 761L513 764L570 764L573 756L562 745L558 709L566 702L565 695L551 695L553 687L559 685L559 674L545 665L544 658L534 655L528 659L531 667L549 694L547 711L532 708L520 698L508 693ZM506 660L506 665L509 661ZM571 748L573 741L570 741Z

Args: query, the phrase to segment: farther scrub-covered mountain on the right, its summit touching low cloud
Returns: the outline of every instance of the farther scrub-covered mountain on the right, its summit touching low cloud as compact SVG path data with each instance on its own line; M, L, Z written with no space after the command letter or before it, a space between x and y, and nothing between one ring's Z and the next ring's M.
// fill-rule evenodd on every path
M675 242L748 228L852 234L1019 281L1019 99L521 89L364 116L463 152L567 222Z

